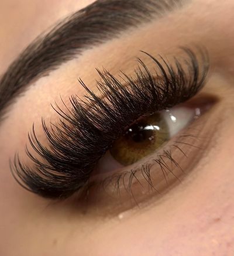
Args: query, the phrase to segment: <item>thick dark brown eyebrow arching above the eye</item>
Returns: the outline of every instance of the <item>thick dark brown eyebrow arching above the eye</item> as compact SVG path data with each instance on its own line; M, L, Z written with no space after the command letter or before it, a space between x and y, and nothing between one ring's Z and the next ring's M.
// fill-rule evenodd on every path
M178 6L181 0L98 0L75 12L37 37L8 67L0 80L0 115L27 85L61 63Z

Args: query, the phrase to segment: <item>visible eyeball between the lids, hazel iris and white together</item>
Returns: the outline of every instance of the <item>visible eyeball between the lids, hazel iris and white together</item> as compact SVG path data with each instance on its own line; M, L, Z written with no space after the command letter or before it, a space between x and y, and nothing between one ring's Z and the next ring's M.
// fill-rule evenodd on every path
M141 117L126 128L108 153L99 162L99 172L132 165L156 152L192 120L201 115L201 108L188 104Z

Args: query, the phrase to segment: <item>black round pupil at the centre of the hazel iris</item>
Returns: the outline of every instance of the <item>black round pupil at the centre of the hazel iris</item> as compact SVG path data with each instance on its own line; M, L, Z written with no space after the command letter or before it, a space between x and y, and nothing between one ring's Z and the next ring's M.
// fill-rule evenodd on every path
M127 139L131 139L136 143L149 141L149 139L154 135L154 131L152 129L146 129L146 127L147 124L134 124L128 129L125 136Z

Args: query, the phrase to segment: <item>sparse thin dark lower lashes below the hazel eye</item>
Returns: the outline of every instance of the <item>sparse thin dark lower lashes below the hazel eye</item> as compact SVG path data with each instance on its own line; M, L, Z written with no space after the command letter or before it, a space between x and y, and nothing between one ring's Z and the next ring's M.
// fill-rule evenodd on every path
M140 206L140 203L142 202L141 199L138 199L138 197L135 196L136 191L133 189L133 184L136 185L137 183L137 185L140 186L140 188L137 190L140 190L141 192L144 191L146 194L163 194L165 191L156 187L157 182L154 180L155 172L163 173L165 183L167 183L168 186L166 187L166 190L170 189L170 185L173 185L172 183L181 182L185 173L189 172L188 169L185 170L183 167L181 167L179 161L177 162L178 156L177 158L173 156L175 155L175 151L180 153L183 161L185 157L188 159L188 161L190 161L190 164L192 165L191 159L188 158L188 155L184 151L188 151L188 149L192 150L193 148L199 150L199 152L202 153L210 140L206 136L201 135L205 126L204 120L200 122L197 120L196 122L197 124L193 124L191 127L185 128L185 130L181 132L180 135L174 138L173 143L167 147L168 149L163 149L163 152L157 153L157 156L154 156L151 161L146 159L144 161L145 163L140 164L140 166L136 168L125 170L123 172L113 173L112 175L108 175L106 178L103 178L99 181L95 180L94 178L94 182L90 181L84 187L82 196L86 194L85 200L88 202L89 197L94 196L94 194L91 192L93 187L95 188L95 195L97 196L98 189L104 190L108 196L111 196L115 199L119 199L122 194L126 193L132 202L130 207L133 207ZM197 127L200 126L201 128L197 129ZM196 131L195 134L194 131ZM195 142L198 141L202 141L202 147L195 144ZM198 155L201 156L200 154ZM175 169L177 169L177 172L179 173L178 176L174 171ZM168 178L170 175L174 176L174 179L171 182L170 178ZM123 209L121 208L121 210Z

